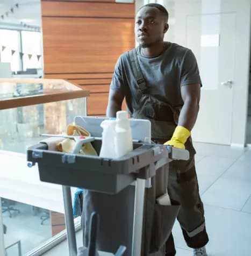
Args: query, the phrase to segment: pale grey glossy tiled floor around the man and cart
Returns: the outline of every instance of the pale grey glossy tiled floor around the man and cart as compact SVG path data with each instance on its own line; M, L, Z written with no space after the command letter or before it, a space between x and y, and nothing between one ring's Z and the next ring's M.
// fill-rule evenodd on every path
M251 150L195 143L209 256L251 256ZM176 256L192 255L176 222ZM77 234L81 245L81 234ZM64 241L46 255L69 255Z

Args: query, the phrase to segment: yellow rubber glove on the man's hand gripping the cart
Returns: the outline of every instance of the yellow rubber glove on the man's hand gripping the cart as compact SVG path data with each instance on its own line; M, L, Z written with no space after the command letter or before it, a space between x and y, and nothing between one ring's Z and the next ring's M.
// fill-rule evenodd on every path
M183 127L177 126L174 130L173 137L168 140L164 145L170 145L177 148L185 149L185 141L187 141L188 137L191 135L190 131Z

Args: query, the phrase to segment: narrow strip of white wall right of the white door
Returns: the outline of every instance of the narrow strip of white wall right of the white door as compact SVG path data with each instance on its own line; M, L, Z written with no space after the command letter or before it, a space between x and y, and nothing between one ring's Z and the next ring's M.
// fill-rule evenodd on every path
M226 7L231 8L230 5ZM236 86L233 98L232 143L245 144L249 86L250 1L238 1L236 13Z

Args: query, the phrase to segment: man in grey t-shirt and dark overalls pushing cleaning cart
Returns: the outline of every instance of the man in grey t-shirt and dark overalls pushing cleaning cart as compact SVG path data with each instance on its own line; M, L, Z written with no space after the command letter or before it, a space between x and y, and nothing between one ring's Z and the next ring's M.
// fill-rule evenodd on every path
M193 255L206 256L208 237L195 171L196 152L190 137L199 110L201 81L193 53L164 42L167 31L168 12L162 5L141 7L135 18L137 57L133 60L130 54L124 53L117 61L106 115L116 117L125 97L133 118L150 120L152 140L189 151L188 161L173 161L169 165L168 194L181 204L177 219ZM145 82L135 78L134 61L139 63ZM166 243L166 255L175 253L171 235Z

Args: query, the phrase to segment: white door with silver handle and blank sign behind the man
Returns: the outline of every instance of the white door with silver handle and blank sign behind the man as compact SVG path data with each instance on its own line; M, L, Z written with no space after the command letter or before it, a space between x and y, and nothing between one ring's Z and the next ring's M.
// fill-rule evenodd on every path
M202 92L194 141L231 144L235 13L187 16L187 45L196 56Z

